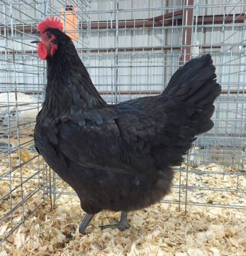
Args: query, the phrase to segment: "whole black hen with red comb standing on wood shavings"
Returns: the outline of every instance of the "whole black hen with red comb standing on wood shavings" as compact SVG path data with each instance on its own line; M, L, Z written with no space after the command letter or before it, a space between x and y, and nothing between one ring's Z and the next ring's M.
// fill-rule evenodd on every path
M122 211L109 225L122 230L129 226L127 212L169 193L171 167L181 164L196 135L213 127L221 86L211 56L204 55L179 68L161 95L107 105L62 29L54 18L37 27L47 89L35 146L79 196L87 213L81 233L102 209Z

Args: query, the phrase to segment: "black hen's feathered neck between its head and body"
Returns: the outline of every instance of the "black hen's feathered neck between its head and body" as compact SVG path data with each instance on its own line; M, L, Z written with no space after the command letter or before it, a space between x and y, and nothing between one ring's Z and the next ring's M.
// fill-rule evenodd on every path
M47 59L44 110L54 118L105 105L75 47Z

